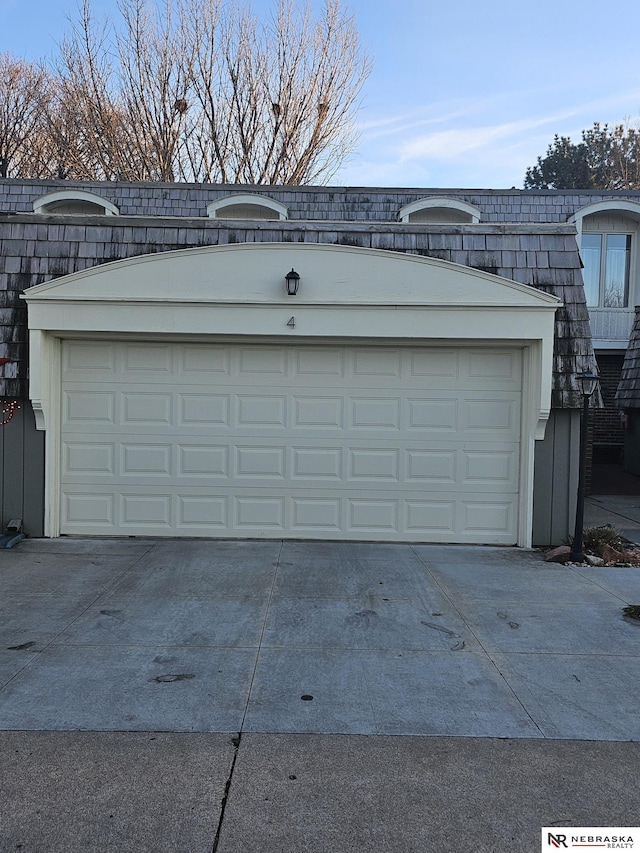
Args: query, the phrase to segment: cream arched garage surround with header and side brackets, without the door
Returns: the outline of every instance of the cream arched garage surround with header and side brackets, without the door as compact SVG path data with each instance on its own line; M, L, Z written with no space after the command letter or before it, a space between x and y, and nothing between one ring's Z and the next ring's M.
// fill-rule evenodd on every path
M286 292L291 269L300 275L296 296ZM560 302L433 258L301 243L207 246L114 261L29 288L24 298L41 426L56 341L82 336L515 343L535 351L540 425L550 408Z

